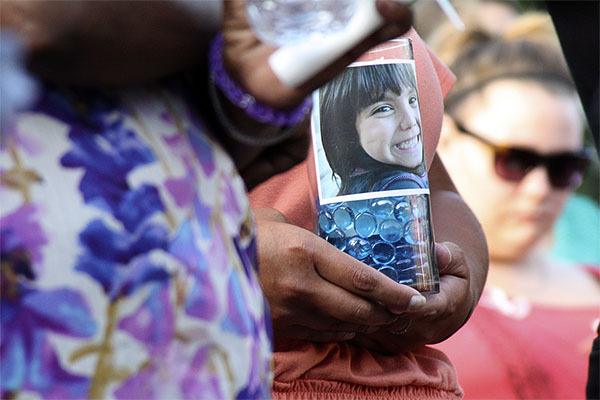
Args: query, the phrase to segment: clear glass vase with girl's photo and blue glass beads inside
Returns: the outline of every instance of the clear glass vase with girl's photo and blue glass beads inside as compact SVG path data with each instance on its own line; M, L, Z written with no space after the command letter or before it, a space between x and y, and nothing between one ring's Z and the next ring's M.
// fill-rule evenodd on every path
M318 234L396 282L437 292L410 40L367 52L316 91L313 103Z

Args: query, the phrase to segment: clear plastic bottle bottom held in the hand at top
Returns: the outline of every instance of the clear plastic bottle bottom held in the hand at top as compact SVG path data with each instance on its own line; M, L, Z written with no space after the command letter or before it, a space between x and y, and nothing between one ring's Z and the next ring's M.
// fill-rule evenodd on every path
M340 31L356 10L356 0L247 0L246 5L252 29L275 47Z

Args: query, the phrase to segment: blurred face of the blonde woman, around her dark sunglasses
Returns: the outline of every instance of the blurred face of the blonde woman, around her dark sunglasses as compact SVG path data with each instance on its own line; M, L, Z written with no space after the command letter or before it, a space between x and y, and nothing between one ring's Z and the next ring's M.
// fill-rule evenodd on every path
M575 97L548 90L534 81L489 84L460 106L465 129L496 145L539 154L577 151L582 121ZM444 123L439 153L452 180L481 222L490 256L497 261L525 257L549 233L571 192L555 188L541 165L511 182L494 168L494 152Z

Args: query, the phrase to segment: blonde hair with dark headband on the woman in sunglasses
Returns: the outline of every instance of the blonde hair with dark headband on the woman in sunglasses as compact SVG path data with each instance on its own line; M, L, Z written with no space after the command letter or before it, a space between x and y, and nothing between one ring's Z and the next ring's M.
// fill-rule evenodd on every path
M523 14L501 34L475 26L447 35L433 46L457 77L445 101L451 114L470 94L498 79L533 80L549 89L575 92L547 15Z

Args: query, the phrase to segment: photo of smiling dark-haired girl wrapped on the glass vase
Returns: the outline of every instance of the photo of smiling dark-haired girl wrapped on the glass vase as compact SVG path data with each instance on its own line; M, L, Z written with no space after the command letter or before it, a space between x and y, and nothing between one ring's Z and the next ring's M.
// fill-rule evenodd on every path
M335 182L337 196L428 187L412 63L347 68L320 89L319 114L322 186Z

